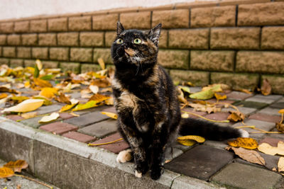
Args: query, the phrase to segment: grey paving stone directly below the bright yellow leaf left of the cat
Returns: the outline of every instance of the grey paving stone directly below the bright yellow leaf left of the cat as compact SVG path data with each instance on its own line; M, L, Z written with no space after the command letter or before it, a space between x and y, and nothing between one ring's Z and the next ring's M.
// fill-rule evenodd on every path
M86 125L91 125L95 122L107 120L108 118L109 117L107 117L107 115L102 115L102 113L100 113L99 111L96 111L96 112L80 115L79 117L65 120L64 122L68 122L72 125L77 125L78 127L84 127Z

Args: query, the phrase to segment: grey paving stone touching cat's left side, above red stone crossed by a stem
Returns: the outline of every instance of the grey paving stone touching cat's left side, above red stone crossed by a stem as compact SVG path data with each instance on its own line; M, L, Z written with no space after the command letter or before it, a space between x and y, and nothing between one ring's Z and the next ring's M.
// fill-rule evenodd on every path
M87 127L83 127L82 129L78 130L78 132L102 138L107 136L108 134L116 132L116 130L116 120L109 119L102 122L97 122Z

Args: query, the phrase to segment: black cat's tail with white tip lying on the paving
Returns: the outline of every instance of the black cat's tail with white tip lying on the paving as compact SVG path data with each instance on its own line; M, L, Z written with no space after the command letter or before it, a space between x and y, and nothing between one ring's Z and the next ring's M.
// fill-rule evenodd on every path
M225 140L236 137L249 137L249 132L234 129L233 127L222 127L212 122L197 120L193 118L182 118L180 121L180 132L182 136L198 135L205 139Z

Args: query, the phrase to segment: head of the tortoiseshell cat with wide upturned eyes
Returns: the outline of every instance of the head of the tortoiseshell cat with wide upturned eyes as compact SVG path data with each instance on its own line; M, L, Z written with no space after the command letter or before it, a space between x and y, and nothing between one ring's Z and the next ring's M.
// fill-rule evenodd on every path
M158 24L148 31L124 30L124 26L118 22L116 39L111 46L114 64L155 64L161 28L162 25Z

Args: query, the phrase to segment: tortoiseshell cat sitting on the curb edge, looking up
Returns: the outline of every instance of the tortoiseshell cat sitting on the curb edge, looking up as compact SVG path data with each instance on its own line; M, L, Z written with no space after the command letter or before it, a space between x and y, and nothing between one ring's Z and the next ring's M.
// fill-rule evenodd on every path
M214 140L249 135L244 130L181 118L173 81L157 63L160 30L161 24L150 31L124 30L118 22L111 46L118 130L131 147L121 151L116 161L124 163L133 154L135 176L140 178L150 169L154 180L163 173L165 148L178 132Z

